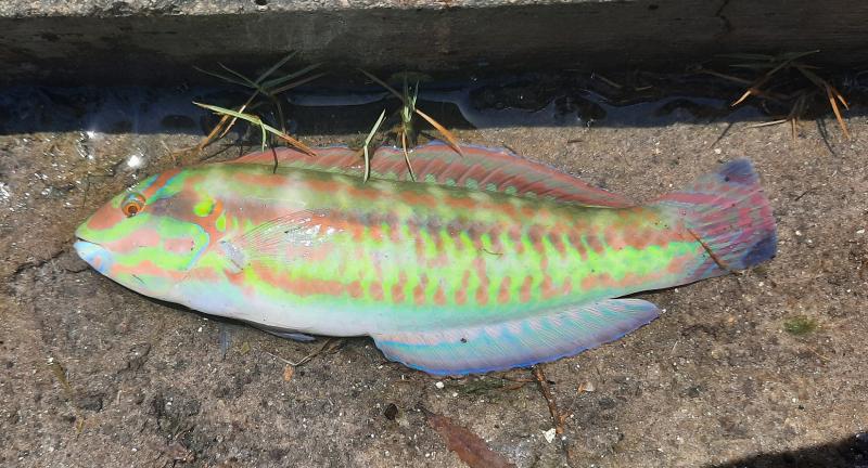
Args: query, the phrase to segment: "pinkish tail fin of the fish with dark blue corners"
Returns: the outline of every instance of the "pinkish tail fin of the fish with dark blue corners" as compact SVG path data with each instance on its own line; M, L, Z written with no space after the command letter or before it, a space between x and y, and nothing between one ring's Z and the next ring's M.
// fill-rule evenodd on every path
M695 280L743 270L775 257L778 235L771 206L751 162L739 159L660 197L673 207L709 252Z

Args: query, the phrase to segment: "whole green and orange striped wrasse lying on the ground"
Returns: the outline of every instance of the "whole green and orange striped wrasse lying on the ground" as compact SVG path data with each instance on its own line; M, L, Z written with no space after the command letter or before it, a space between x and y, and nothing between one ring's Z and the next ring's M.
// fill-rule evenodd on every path
M615 340L660 311L616 299L774 257L746 160L647 205L502 150L279 150L151 177L76 231L100 273L296 338L371 336L431 374L528 366Z

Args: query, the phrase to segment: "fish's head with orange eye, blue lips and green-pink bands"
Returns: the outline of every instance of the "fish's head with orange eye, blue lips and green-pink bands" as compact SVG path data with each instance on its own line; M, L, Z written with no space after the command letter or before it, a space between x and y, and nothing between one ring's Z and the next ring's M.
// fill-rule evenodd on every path
M209 214L183 171L151 177L100 207L75 232L82 260L145 296L178 301L177 286L210 244Z

